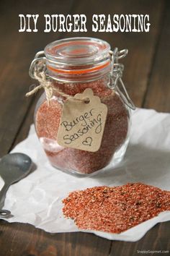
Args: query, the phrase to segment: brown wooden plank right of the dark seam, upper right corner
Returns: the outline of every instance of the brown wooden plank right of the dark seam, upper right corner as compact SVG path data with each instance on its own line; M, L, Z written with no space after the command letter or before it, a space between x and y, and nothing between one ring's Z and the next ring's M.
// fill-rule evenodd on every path
M145 108L154 108L157 111L170 112L170 1L166 1L163 26L158 38L158 46L154 56L151 77L148 80Z

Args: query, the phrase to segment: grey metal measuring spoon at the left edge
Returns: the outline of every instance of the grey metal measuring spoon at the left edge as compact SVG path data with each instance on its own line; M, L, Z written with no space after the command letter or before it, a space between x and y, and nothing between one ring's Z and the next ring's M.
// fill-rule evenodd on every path
M10 218L12 214L9 210L1 210L4 206L6 192L9 186L23 179L32 168L32 160L28 155L22 153L12 153L4 155L0 160L0 176L4 179L4 187L0 191L0 217Z

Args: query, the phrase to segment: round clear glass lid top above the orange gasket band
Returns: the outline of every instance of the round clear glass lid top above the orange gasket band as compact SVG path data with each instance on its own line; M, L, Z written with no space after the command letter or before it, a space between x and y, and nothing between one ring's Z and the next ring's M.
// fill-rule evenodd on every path
M56 63L86 65L109 58L110 46L97 38L66 38L45 47L47 59Z

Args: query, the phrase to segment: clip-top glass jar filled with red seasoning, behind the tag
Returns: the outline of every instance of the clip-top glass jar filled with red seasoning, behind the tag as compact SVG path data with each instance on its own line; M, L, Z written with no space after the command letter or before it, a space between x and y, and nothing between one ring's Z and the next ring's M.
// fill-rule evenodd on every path
M45 56L40 57L40 54ZM48 160L55 168L88 175L106 169L108 165L115 166L122 160L130 128L130 99L127 100L127 92L122 93L117 85L122 82L122 64L118 64L118 59L123 55L125 50L121 52L115 48L112 52L109 43L97 38L57 40L36 54L30 75L37 78L38 74L45 74L45 81L50 82L53 92L48 102L49 91L42 86L45 93L35 109L35 129ZM56 139L66 95L83 93L86 88L91 88L94 95L107 105L107 120L97 152L65 148L58 145Z

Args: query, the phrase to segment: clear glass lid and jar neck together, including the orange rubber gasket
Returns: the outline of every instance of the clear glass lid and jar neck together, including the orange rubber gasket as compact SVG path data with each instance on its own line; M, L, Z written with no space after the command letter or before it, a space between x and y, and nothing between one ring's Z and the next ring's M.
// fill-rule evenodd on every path
M110 71L109 43L97 38L66 38L45 47L49 77L61 82L97 80Z

